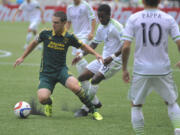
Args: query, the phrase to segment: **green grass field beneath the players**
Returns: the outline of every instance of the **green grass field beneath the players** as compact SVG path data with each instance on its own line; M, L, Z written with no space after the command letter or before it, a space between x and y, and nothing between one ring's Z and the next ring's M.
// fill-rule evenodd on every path
M103 103L99 110L104 120L75 118L73 110L81 106L78 98L69 90L56 85L54 90L53 117L46 118L30 115L27 119L18 119L13 112L14 105L21 100L29 102L31 98L37 101L37 86L39 83L39 63L41 51L32 52L24 64L13 68L16 58L22 55L28 23L0 22L0 50L12 53L9 57L0 57L0 135L133 135L130 122L130 103L127 100L129 84L122 81L121 71L108 81L101 83L97 93ZM50 27L50 24L41 25ZM169 41L174 80L180 88L180 70L175 68L179 60L176 45ZM97 51L101 52L102 46ZM132 49L133 51L133 49ZM88 61L93 56L86 56ZM133 55L131 54L129 68L132 72ZM71 49L68 53L70 71L77 77L75 67L71 64ZM179 89L180 90L180 89ZM180 100L178 100L180 103ZM42 106L38 104L41 108ZM146 135L173 135L173 127L167 115L166 105L155 93L148 96L143 108Z

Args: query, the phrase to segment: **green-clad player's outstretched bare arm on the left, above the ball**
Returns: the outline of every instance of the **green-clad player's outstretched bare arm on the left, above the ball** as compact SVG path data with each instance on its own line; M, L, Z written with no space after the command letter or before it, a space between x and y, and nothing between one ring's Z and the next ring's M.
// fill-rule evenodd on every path
M23 55L21 57L19 57L16 62L14 63L14 67L16 67L17 65L21 64L24 59L32 52L32 50L39 44L38 40L33 40L29 46L26 48L26 50L24 51Z

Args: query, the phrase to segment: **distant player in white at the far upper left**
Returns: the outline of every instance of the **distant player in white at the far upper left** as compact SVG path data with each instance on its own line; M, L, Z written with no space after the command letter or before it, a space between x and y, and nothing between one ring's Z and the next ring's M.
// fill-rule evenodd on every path
M24 12L24 15L30 22L28 33L26 35L26 44L24 45L24 49L26 49L32 39L32 36L37 34L40 21L44 23L44 11L36 0L25 0L15 12L13 22L15 21L17 14L19 14L21 11Z

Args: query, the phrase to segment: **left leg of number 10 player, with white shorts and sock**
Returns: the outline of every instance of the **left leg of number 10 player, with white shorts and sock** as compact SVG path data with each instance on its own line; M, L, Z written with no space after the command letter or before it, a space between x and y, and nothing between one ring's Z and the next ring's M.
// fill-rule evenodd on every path
M146 96L151 92L151 79L146 76L133 74L128 98L131 100L131 123L136 135L144 135L144 116L142 105Z

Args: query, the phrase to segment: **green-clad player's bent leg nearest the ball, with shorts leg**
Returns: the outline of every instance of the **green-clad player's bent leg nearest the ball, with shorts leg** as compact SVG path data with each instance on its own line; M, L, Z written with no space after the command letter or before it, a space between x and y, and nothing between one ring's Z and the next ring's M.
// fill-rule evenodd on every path
M52 116L52 97L54 86L56 84L55 80L52 80L44 74L40 74L40 83L38 86L38 100L44 106L44 114L48 117Z

